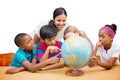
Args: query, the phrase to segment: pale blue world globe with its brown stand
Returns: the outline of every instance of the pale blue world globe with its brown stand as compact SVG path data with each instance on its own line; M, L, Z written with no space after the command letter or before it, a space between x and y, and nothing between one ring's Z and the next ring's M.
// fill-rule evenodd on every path
M80 36L72 36L67 38L62 46L61 53L65 63L73 68L72 75L81 75L77 69L84 67L92 55L92 47L90 42Z

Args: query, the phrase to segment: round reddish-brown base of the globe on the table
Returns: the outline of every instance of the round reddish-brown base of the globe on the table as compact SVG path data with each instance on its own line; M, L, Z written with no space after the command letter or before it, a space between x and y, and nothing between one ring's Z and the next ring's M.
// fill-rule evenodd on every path
M76 68L66 71L66 75L69 75L69 76L81 76L83 74L84 74L84 72L82 70L78 70Z

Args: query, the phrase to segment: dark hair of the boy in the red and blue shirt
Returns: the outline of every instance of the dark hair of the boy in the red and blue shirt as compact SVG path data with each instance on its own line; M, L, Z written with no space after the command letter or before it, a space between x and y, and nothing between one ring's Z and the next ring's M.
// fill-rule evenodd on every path
M57 35L57 29L53 25L43 25L39 31L43 40Z

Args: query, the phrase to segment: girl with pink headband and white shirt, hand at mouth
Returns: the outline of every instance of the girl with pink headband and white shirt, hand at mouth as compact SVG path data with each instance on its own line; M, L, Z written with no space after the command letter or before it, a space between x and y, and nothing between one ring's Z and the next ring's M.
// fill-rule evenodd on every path
M120 65L120 47L113 43L117 26L115 24L105 25L99 30L99 41L93 50L91 61L105 69L113 65Z

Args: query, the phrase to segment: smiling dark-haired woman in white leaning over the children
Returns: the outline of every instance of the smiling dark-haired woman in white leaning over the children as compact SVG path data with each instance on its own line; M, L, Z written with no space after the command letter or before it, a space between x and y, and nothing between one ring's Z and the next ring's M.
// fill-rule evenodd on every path
M63 33L66 28L66 20L67 20L67 12L64 8L59 7L56 8L53 12L53 20L47 21L45 24L39 24L34 31L35 34L33 35L34 43L39 43L42 39L39 35L39 31L41 29L41 26L43 25L54 25L54 27L57 29L57 36L56 40L62 40Z

